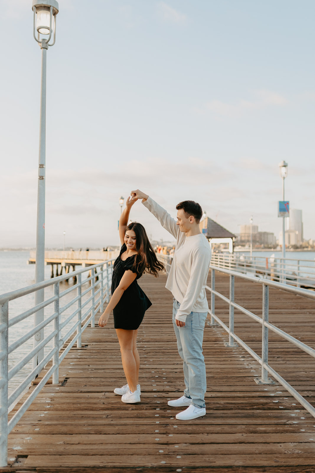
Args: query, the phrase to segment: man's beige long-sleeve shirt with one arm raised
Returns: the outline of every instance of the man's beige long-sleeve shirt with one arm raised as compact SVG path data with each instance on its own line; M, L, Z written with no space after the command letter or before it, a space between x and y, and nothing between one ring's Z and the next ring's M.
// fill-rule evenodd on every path
M176 238L173 263L165 286L180 303L176 319L186 322L190 312L207 312L205 286L211 260L208 240L202 233L186 236L179 230L176 220L150 197L143 205Z

